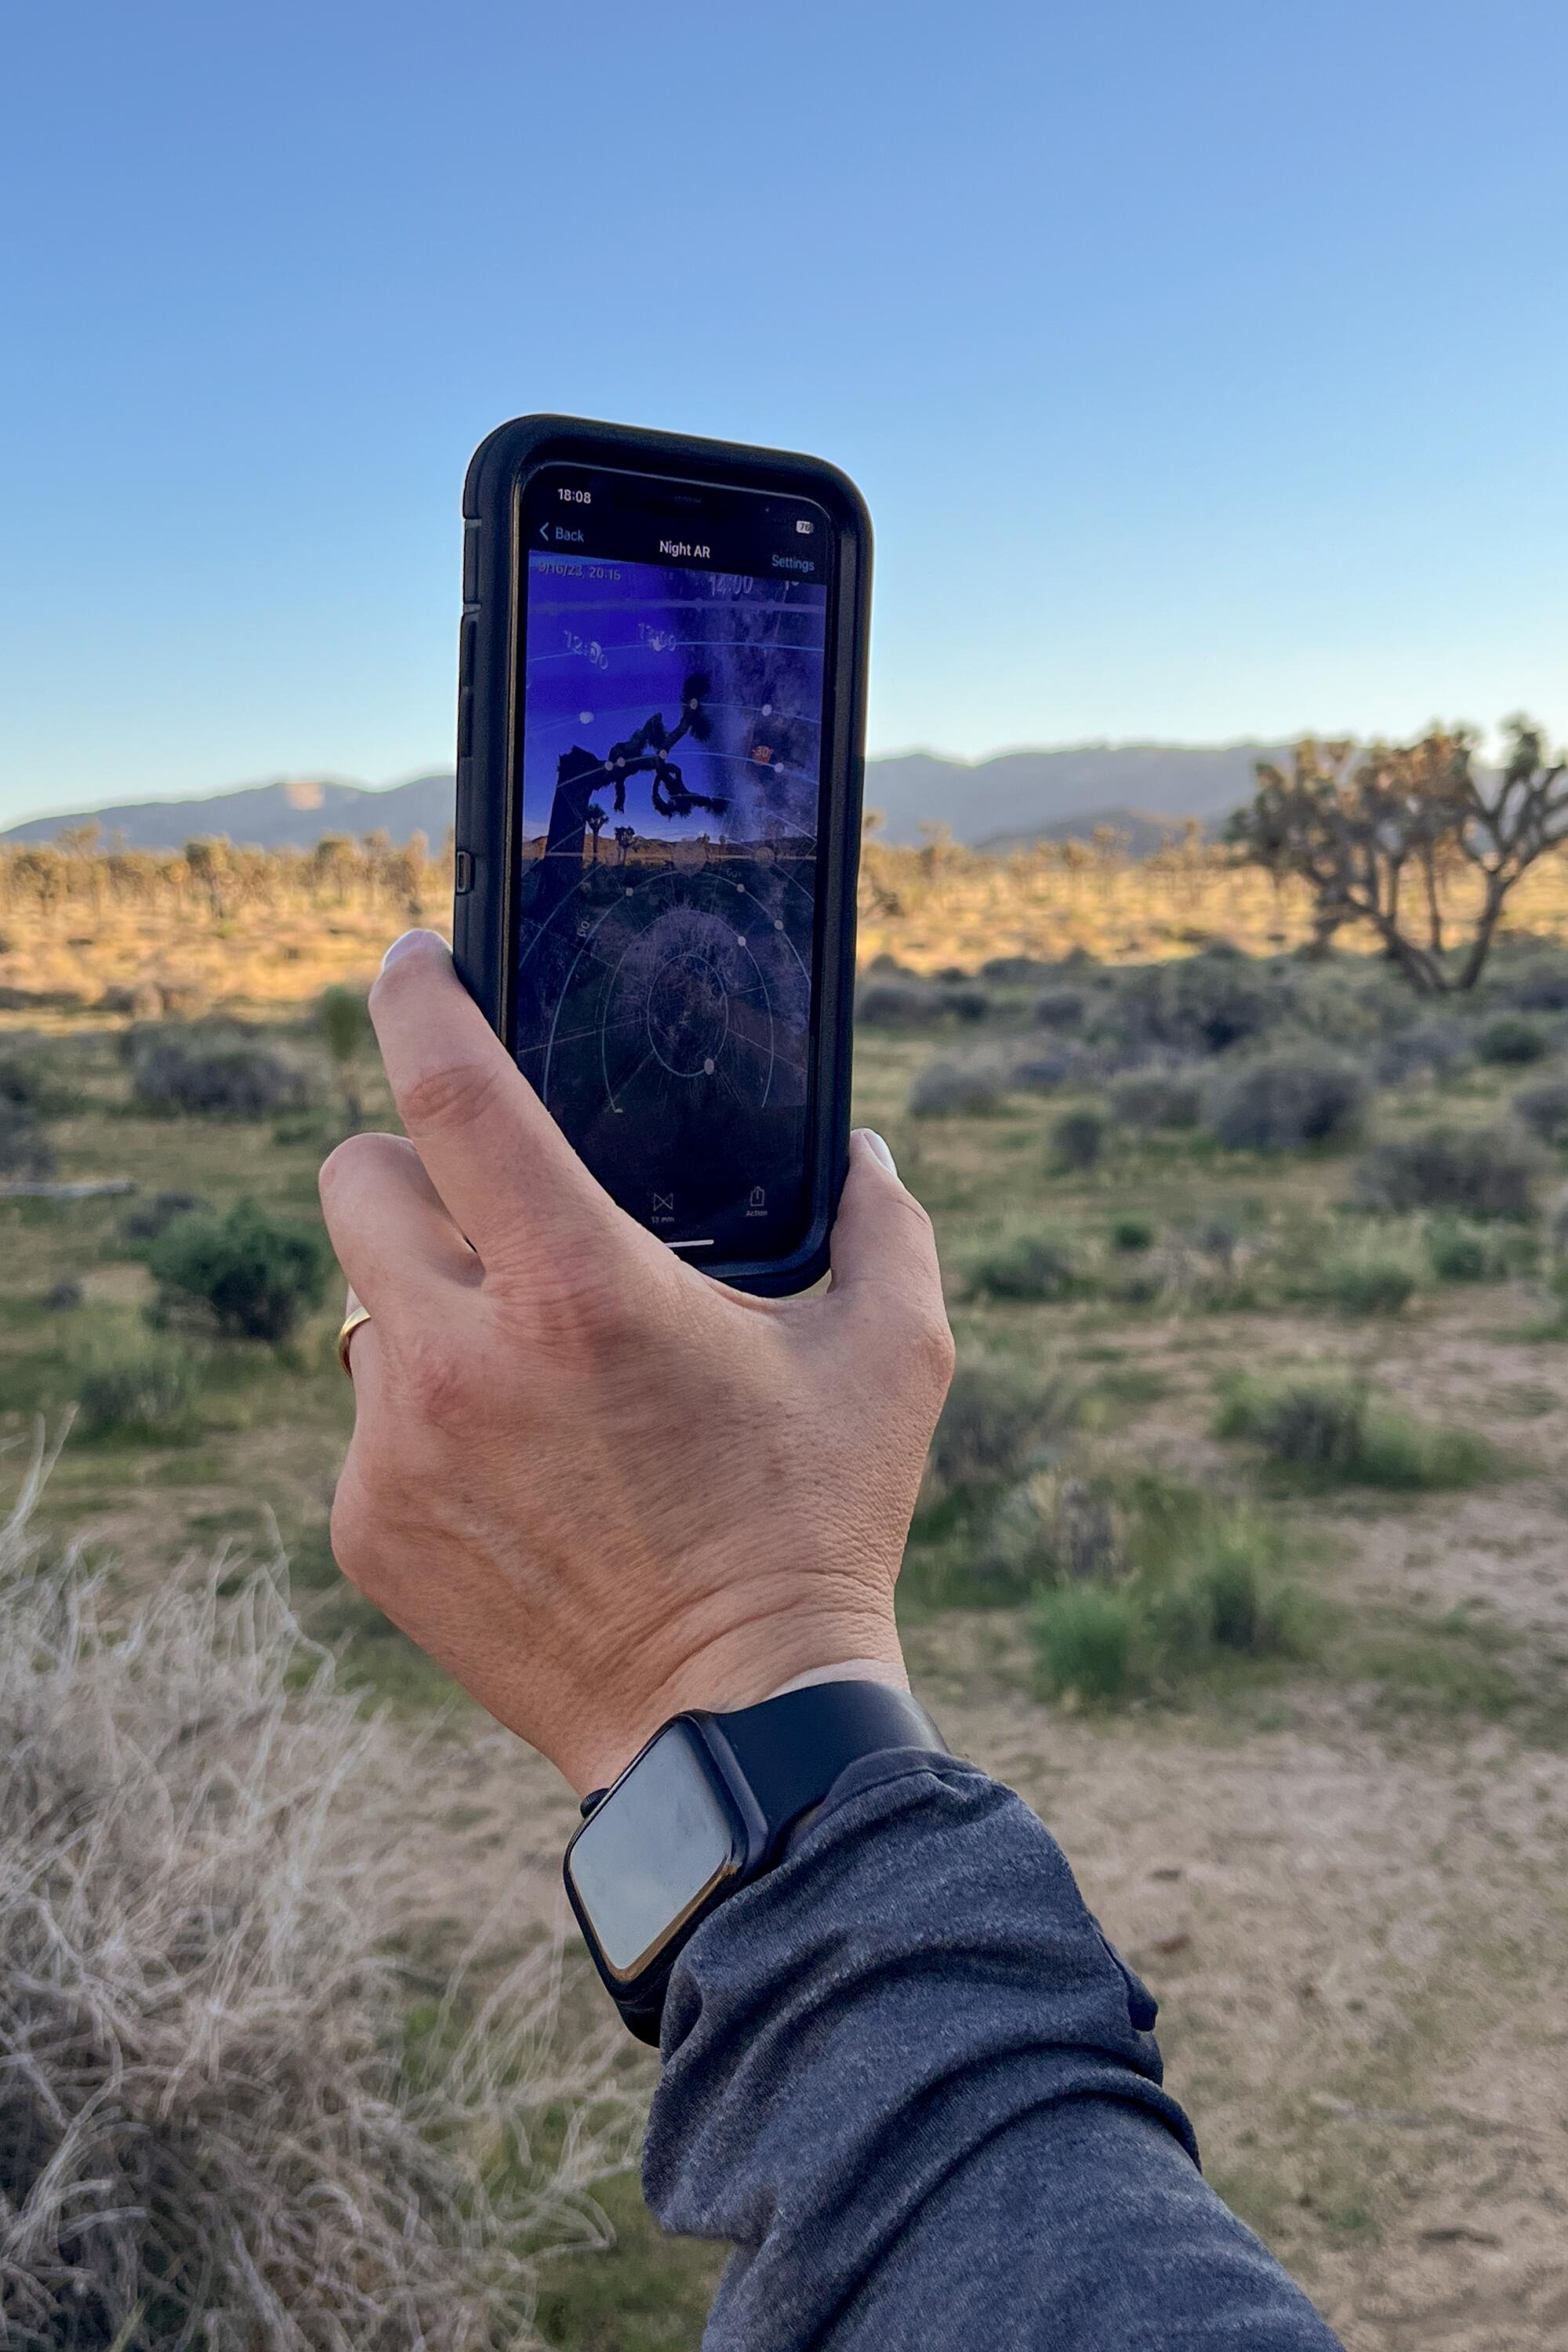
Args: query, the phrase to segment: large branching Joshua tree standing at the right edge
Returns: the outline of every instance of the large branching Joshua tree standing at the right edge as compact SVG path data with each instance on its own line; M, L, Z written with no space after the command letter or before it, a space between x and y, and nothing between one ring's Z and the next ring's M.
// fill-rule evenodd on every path
M1316 946L1340 924L1371 924L1422 995L1474 988L1514 884L1568 842L1568 760L1549 760L1530 720L1507 720L1495 779L1474 769L1467 727L1418 743L1300 743L1291 771L1258 762L1258 793L1227 840L1314 898ZM1443 884L1469 870L1479 884L1469 938L1448 960ZM1415 889L1410 889L1415 884Z

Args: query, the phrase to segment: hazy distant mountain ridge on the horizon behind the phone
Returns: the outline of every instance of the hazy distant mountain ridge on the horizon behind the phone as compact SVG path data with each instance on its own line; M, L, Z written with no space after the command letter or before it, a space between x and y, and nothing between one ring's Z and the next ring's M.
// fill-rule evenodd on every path
M865 807L879 811L884 842L919 842L936 823L973 849L1011 849L1110 823L1145 849L1187 816L1206 826L1227 816L1251 795L1255 762L1284 750L1288 746L1253 741L1065 743L990 760L910 750L865 762ZM106 844L125 849L179 849L197 837L310 849L327 833L388 833L393 842L425 833L440 844L451 823L451 771L393 786L294 776L190 800L31 816L0 833L0 842L49 842L73 826L96 826Z

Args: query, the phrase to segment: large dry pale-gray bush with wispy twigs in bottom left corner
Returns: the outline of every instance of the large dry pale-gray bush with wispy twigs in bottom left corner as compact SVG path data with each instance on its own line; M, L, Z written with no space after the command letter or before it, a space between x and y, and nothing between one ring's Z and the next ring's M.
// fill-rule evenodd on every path
M407 1757L277 1571L129 1616L0 1529L7 2352L538 2345L538 2253L604 2241L635 2119L557 1957L409 2032ZM548 2150L559 2150L548 2157Z

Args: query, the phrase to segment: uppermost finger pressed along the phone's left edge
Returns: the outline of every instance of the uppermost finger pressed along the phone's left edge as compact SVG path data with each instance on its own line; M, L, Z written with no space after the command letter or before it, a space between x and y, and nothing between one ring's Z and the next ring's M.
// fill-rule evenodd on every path
M494 1265L524 1232L604 1237L614 1202L456 976L435 931L404 931L369 995L388 1084L458 1232Z

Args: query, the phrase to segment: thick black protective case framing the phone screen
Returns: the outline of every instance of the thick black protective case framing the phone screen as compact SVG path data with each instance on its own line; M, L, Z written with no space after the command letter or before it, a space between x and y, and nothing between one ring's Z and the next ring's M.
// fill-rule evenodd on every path
M816 941L816 1103L811 1211L790 1258L703 1265L733 1289L778 1298L827 1272L827 1235L849 1164L849 1075L856 978L856 877L865 783L865 649L872 524L849 475L813 456L602 426L581 416L517 416L473 454L463 485L463 628L458 640L456 898L451 948L461 978L501 1037L512 1030L512 677L517 656L517 506L527 473L550 461L623 466L816 499L837 532L832 722L823 760L823 896Z

